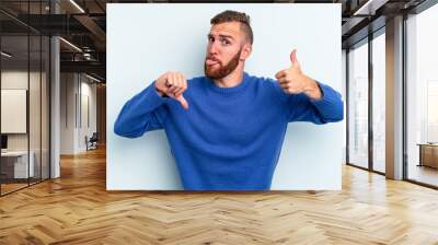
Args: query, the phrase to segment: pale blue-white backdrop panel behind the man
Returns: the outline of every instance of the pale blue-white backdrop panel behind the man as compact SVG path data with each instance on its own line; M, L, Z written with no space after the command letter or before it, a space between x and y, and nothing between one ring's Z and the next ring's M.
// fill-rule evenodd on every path
M297 48L310 77L341 91L341 4L107 4L107 189L182 188L163 130L127 139L114 121L161 73L203 74L209 20L227 9L251 15L249 73L274 78ZM343 138L344 122L289 124L272 189L341 189Z

